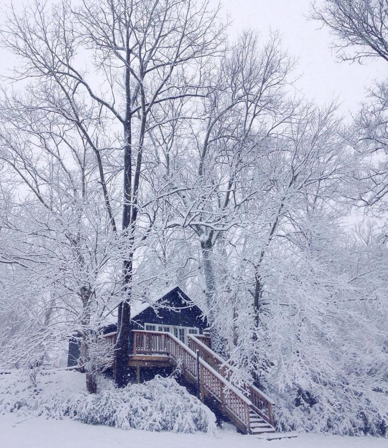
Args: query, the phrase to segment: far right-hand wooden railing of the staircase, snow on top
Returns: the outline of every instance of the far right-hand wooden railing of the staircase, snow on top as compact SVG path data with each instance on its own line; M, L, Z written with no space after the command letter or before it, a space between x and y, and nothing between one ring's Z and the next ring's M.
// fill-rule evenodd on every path
M199 356L215 369L226 380L230 381L233 373L236 373L237 369L228 364L217 353L214 353L209 347L207 347L202 341L199 340L194 334L189 335L189 347L196 351L198 350ZM252 408L269 424L274 424L273 405L274 401L263 391L258 389L253 384L246 384L246 390L248 391L248 398L252 402Z

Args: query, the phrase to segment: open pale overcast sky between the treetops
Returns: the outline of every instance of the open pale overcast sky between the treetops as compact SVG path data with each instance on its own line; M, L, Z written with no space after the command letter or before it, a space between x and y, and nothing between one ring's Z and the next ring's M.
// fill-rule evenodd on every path
M217 2L210 0L213 5ZM16 6L21 3L23 0L13 0ZM10 0L0 0L0 4L3 10ZM231 39L244 28L256 29L263 40L270 30L280 32L283 47L298 59L296 87L308 100L324 104L338 97L342 112L355 112L365 98L365 89L388 74L388 65L378 60L367 65L337 62L330 49L329 32L306 19L310 0L222 0L222 5L222 14L228 13L232 21ZM0 49L2 67L8 65L4 62L9 62L8 55Z

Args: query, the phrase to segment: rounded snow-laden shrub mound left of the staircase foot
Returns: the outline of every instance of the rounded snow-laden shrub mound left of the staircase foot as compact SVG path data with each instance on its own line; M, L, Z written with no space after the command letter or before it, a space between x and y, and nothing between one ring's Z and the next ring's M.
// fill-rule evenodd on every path
M121 429L194 433L215 428L214 414L172 378L77 395L68 406L75 420Z

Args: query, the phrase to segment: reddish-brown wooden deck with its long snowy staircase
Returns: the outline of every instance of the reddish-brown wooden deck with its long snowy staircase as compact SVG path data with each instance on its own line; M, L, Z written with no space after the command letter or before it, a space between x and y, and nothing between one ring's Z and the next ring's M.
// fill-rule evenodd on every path
M205 338L189 335L189 346L171 333L134 330L130 366L179 366L187 381L196 386L201 401L211 398L219 410L245 434L275 433L273 400L252 384L242 392L231 382L234 367L209 347ZM100 337L105 364L113 362L116 333Z

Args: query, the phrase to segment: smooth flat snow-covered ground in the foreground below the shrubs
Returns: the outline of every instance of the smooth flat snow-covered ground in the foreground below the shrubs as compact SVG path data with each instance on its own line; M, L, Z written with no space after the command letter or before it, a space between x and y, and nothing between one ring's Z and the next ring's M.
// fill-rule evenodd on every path
M2 448L387 448L387 440L372 437L337 437L300 434L296 439L258 440L220 430L206 434L151 433L92 426L71 420L24 420L15 415L0 416Z

